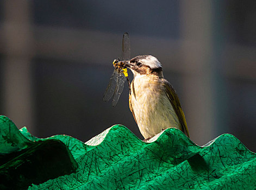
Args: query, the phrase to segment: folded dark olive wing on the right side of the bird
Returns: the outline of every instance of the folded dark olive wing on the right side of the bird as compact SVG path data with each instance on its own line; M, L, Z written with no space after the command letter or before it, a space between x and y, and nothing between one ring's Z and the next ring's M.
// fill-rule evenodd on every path
M175 110L175 112L179 118L179 122L182 124L182 130L186 134L186 136L189 137L188 125L186 124L185 115L182 110L182 106L180 106L179 98L178 98L175 90L171 86L171 84L166 79L161 79L161 80L164 82L164 87L165 87L167 97L169 98L169 100L172 104L172 107Z

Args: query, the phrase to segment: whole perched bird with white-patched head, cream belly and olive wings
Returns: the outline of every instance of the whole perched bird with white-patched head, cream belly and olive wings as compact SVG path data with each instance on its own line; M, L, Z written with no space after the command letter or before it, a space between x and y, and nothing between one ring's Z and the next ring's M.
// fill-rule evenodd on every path
M134 79L130 85L129 108L143 141L167 128L177 128L189 137L188 125L172 85L164 78L161 63L152 55L130 59L126 67Z

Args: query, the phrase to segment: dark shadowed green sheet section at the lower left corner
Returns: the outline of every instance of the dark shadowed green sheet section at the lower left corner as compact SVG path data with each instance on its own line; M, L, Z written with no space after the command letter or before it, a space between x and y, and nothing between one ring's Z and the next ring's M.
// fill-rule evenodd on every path
M28 134L28 133L27 133ZM60 161L61 160L61 161ZM0 189L27 189L75 172L77 162L56 139L30 141L13 122L0 116Z

